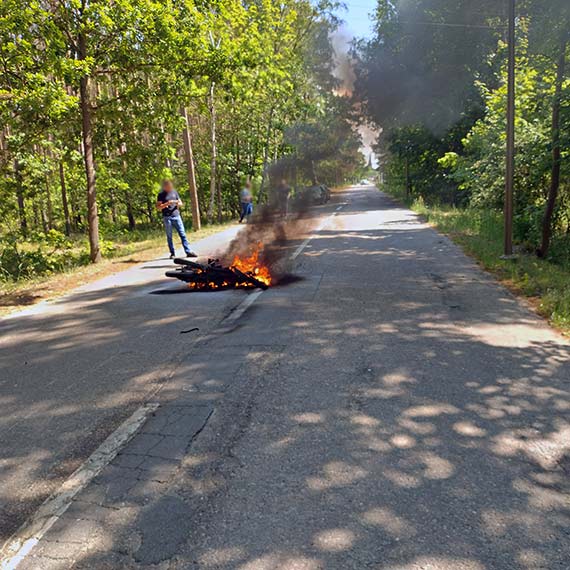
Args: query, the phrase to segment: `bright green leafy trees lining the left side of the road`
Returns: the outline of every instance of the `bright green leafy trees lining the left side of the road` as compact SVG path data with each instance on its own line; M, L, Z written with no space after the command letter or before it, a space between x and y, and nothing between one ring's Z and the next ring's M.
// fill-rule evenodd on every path
M333 93L334 6L327 0L2 2L0 233L7 248L9 234L35 244L26 242L22 251L10 246L6 259L15 261L8 273L65 266L63 250L48 256L38 232L87 231L82 84L107 237L124 228L136 235L138 227L158 222L154 205L165 176L174 177L189 206L182 108L200 208L208 210L214 188L218 220L235 214L246 179L275 184L270 163L295 156L299 184L312 177L308 162L327 181L358 168L350 105ZM327 125L322 148L309 158L307 147L297 149L286 133L321 122ZM110 244L100 247L113 254ZM32 253L50 261L21 260Z

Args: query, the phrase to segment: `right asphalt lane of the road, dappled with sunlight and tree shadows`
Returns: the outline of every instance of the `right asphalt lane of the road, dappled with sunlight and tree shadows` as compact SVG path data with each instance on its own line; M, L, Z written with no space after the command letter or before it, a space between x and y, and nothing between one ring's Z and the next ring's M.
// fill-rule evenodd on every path
M71 567L568 568L570 347L445 238L373 219L187 356L169 382L214 415Z

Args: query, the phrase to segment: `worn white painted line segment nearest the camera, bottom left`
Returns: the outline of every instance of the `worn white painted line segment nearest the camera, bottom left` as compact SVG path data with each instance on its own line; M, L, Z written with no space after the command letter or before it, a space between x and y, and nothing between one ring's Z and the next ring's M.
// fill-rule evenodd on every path
M117 456L144 424L148 416L159 407L157 403L144 404L125 420L89 456L89 458L48 497L34 515L8 540L0 552L0 568L14 570L32 551L46 532L59 520L73 498L84 489Z

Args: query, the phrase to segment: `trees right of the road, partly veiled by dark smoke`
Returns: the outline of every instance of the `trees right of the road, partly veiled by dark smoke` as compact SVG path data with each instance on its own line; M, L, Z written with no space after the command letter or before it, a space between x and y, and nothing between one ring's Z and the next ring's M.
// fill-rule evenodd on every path
M377 33L357 49L357 95L383 127L378 151L393 192L500 216L505 190L507 47L494 3L379 0ZM475 9L476 5L476 9ZM514 234L544 239L553 181L555 87L568 60L570 4L517 3ZM563 51L563 49L565 51ZM570 233L570 80L560 101L561 175L550 259L565 263ZM489 227L487 228L489 229Z

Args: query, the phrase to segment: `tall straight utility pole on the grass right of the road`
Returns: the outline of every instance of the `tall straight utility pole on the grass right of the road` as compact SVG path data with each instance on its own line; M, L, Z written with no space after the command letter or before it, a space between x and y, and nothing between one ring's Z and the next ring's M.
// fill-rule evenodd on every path
M513 255L513 202L515 175L515 22L516 0L507 0L509 4L509 63L507 92L507 169L505 181L505 250L504 256Z

